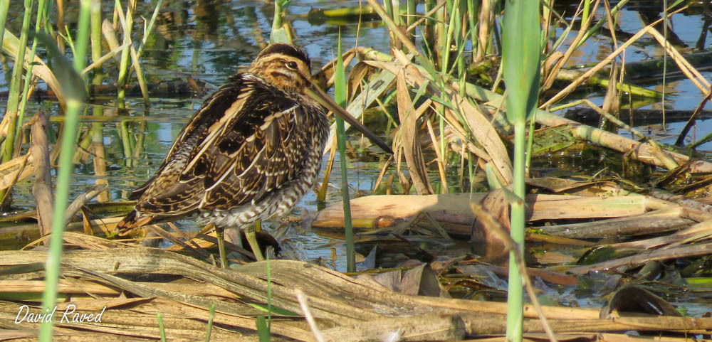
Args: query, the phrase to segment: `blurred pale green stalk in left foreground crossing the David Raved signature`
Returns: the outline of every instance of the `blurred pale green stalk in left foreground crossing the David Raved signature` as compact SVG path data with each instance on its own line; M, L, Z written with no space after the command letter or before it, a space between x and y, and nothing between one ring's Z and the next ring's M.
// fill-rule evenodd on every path
M81 71L85 65L85 53L89 41L89 14L92 6L99 6L92 0L81 0L79 10L79 24L77 34L76 53L74 56L74 70L81 79ZM57 56L58 58L60 56ZM57 176L57 190L55 194L55 208L52 221L52 235L50 237L49 252L45 265L45 291L42 295L42 312L51 312L57 302L57 287L62 261L62 234L64 233L64 215L69 202L69 187L71 173L74 169L72 157L74 144L77 137L77 123L83 98L78 94L83 92L68 92L67 112L63 127L59 173ZM52 321L43 321L39 331L39 341L52 340Z

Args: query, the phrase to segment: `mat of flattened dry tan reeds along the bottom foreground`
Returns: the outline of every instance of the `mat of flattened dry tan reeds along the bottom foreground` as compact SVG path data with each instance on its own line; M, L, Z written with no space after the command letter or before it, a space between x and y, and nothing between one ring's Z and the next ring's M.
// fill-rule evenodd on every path
M90 238L97 242L99 239ZM4 268L37 264L44 260L46 252L0 251L0 267ZM109 333L118 336L118 339L130 333L132 338L155 338L155 314L162 312L169 338L195 341L204 338L208 307L216 304L218 311L214 324L218 328L212 337L243 341L255 337L254 317L264 314L263 310L244 303L266 302L265 262L246 264L237 272L228 272L163 250L109 248L68 251L64 263L66 282L62 282L60 288L67 297L66 302L59 304L58 310L65 309L68 304L88 312L100 311L104 306L107 309L103 324L63 324L58 327L61 333L82 336ZM292 289L303 289L310 299L310 311L313 311L315 319L320 320L320 325L323 322L333 327L322 331L325 337L339 337L336 340L325 338L327 341L382 341L375 338L377 333L394 331L402 334L404 341L422 341L423 336L429 336L426 338L429 341L453 341L465 335L504 331L504 303L399 294L365 279L347 277L304 262L271 260L270 267L274 305L300 311L296 292ZM183 279L164 283L132 280L160 279L171 274L169 279L176 276ZM41 283L33 280L38 277L43 277L41 267L36 272L4 274L0 286L12 288L14 292L36 294L43 290ZM105 298L89 298L97 294ZM14 326L12 321L19 305L9 301L0 303L0 325ZM712 328L710 318L659 316L598 319L596 309L542 306L541 310L556 332L687 330L698 333ZM533 306L525 306L525 317L525 331L543 331ZM36 331L38 324L24 327ZM313 333L302 316L281 316L273 321L272 333L275 340L282 336L297 341L314 341Z

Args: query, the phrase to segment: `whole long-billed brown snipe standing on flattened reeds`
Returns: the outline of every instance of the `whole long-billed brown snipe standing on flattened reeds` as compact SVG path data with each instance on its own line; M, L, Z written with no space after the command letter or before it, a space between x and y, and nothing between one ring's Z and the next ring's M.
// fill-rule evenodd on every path
M223 267L226 228L244 228L261 259L253 224L291 210L319 172L329 128L322 106L390 151L313 85L303 50L274 43L203 102L155 176L133 191L138 203L120 233L197 217L215 225Z

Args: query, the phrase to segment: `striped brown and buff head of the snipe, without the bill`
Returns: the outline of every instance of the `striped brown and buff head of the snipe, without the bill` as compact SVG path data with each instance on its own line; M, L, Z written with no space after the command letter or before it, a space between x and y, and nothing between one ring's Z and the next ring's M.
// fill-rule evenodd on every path
M304 92L312 85L309 56L288 44L267 46L257 55L249 71L282 90Z

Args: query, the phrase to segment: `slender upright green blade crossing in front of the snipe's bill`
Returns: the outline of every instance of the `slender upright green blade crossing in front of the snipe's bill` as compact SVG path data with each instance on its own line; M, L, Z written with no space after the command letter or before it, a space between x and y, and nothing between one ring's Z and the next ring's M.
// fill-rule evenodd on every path
M346 105L346 76L344 61L341 58L341 31L339 31L339 47L334 73L334 100L341 107ZM356 252L354 249L354 228L351 225L351 203L349 200L349 181L346 175L346 129L344 120L336 117L336 139L339 147L339 161L341 163L341 195L344 199L344 228L346 235L346 270L356 272Z

